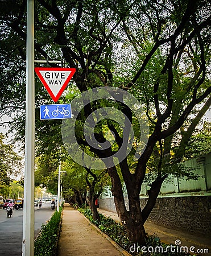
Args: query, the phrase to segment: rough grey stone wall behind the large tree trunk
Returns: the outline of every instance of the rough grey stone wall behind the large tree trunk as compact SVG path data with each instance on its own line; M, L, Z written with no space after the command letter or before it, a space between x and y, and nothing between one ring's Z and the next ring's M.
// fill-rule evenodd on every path
M146 202L147 199L140 199L142 209ZM113 198L99 203L100 208L116 212ZM211 238L211 196L158 197L148 221Z

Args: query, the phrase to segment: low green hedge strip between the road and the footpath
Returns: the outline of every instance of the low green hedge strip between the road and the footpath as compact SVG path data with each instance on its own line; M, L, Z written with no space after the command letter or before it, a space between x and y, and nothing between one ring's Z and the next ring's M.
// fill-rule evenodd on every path
M42 225L42 229L34 245L35 256L53 256L56 255L56 246L59 236L61 210L55 211L51 220L46 225Z

